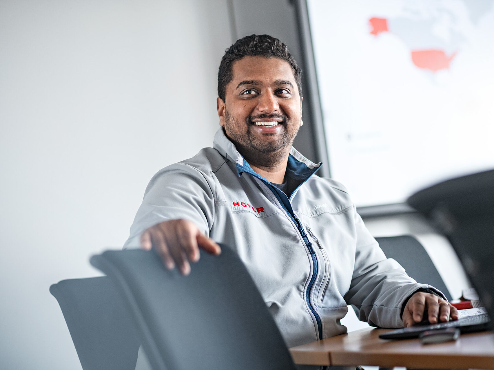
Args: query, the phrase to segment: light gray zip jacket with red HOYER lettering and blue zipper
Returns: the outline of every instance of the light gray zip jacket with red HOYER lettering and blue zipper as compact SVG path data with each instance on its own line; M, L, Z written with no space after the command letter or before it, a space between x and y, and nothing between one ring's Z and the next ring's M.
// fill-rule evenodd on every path
M320 166L291 149L288 174L305 181L288 199L220 128L213 148L151 179L124 247L156 223L194 222L238 252L289 347L345 333L347 304L370 325L402 327L404 300L431 287L386 259L346 189L315 175Z

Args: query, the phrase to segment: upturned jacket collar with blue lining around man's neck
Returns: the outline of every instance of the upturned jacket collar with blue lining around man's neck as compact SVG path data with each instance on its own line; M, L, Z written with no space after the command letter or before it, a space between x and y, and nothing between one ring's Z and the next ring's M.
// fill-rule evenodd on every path
M214 135L213 148L218 150L225 158L235 163L239 177L244 172L250 173L251 175L255 174L256 177L259 177L239 153L237 148L235 148L235 145L226 137L222 127L220 127ZM290 154L288 155L287 173L295 180L306 180L319 170L322 164L323 162L316 164L310 161L297 149L291 147Z

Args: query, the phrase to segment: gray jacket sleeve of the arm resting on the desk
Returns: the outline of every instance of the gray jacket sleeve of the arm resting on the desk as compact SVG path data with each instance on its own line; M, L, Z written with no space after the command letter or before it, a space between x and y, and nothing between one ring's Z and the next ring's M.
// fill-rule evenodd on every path
M381 328L401 328L402 305L413 293L431 289L445 298L430 285L417 284L396 260L386 259L357 212L355 228L355 265L350 289L344 298L355 307L359 320Z

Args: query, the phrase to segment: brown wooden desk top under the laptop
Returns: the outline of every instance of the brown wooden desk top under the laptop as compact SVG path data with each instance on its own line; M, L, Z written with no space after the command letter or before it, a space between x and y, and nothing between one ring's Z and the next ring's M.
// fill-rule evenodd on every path
M295 364L405 366L422 369L494 369L493 332L461 334L446 343L379 339L389 329L366 328L290 348Z

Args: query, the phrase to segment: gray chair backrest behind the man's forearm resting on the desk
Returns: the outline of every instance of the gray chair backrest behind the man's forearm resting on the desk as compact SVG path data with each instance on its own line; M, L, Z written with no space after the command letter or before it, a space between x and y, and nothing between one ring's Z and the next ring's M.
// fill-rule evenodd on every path
M375 238L387 258L398 261L407 274L417 283L430 284L444 293L448 300L451 294L439 275L422 244L410 235Z

